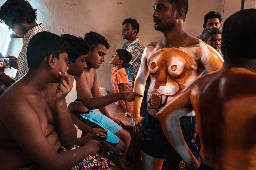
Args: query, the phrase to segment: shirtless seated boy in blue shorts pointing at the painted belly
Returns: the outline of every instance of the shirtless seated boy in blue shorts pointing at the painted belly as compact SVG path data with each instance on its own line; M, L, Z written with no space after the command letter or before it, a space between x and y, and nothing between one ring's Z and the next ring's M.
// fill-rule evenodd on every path
M89 56L86 60L87 68L81 77L75 77L77 93L81 101L71 103L70 109L76 111L76 116L80 120L86 121L90 119L90 121L108 130L108 140L106 141L111 142L112 146L126 153L130 145L131 136L120 126L120 121L109 115L105 106L120 99L130 102L135 99L135 95L140 97L141 95L126 91L101 96L96 69L100 68L101 64L105 62L105 55L110 45L105 37L95 32L87 33L85 40L90 46ZM98 108L101 113L90 110Z

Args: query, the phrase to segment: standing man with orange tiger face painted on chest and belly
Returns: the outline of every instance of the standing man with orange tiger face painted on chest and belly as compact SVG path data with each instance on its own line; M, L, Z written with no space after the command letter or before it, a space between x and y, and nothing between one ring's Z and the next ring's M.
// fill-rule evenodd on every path
M142 138L143 169L161 169L166 157L170 158L173 169L186 169L184 160L166 139L156 113L186 90L204 70L212 72L221 69L223 60L214 48L185 32L187 0L156 0L153 9L155 29L163 32L163 38L147 45L142 55L134 92L144 94L146 79L150 74L148 112L144 120L139 114L142 99L136 98L133 103L132 125ZM192 137L194 116L190 112L180 121L184 125L186 142L193 154L197 155L196 133ZM199 163L193 166L199 166Z

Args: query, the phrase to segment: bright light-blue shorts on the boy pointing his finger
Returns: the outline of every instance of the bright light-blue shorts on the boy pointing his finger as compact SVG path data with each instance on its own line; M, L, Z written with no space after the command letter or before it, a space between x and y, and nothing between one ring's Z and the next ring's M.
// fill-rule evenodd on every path
M108 139L106 140L107 142L116 144L119 142L120 139L115 134L119 132L122 127L109 119L107 116L94 110L89 110L84 114L80 114L80 116L82 116L84 119L90 120L91 122L98 124L105 130L108 130Z

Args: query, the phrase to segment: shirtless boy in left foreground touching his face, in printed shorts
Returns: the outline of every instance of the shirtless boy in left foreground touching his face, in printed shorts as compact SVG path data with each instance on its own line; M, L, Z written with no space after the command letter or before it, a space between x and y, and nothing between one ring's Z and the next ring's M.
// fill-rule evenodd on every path
M74 80L66 73L67 47L62 38L50 32L40 32L30 40L28 73L0 97L0 169L19 169L31 164L43 169L74 169L99 151L98 143L90 140L78 149L57 152L62 141L76 136L65 99ZM51 112L47 103L48 83L60 83L54 96L56 113ZM113 169L113 163L108 162Z

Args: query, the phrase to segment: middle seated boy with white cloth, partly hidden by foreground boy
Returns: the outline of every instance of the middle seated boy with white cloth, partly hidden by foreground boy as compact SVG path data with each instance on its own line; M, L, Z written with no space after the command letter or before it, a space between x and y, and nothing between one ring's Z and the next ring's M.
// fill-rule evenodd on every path
M82 72L87 68L86 59L88 57L90 48L82 37L76 37L70 34L63 34L61 35L61 38L63 38L68 43L68 46L69 46L68 60L67 60L67 65L69 69L67 73L72 76L79 77L82 75ZM46 94L48 96L47 99L48 99L48 103L51 106L52 112L56 112L55 104L54 104L55 103L54 95L57 87L58 87L58 83L48 83L46 87ZM69 106L71 102L77 99L76 88L77 88L77 83L76 83L76 80L74 80L73 88L66 96L67 106ZM71 148L73 147L74 145L73 143L75 143L78 146L82 146L91 137L107 136L105 133L107 133L108 131L103 129L100 126L97 126L97 124L95 124L93 127L98 127L98 128L91 128L87 124L84 124L83 122L81 122L71 112L70 112L70 115L73 120L73 123L79 129L77 129L77 138L70 139L69 143L67 143L66 147L68 149L70 147Z

